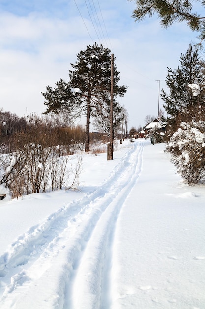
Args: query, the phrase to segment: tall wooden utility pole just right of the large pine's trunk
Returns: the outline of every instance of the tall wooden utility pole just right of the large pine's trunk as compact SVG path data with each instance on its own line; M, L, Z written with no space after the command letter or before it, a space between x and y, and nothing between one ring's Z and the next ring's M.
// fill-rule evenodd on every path
M113 83L114 83L114 54L111 54L111 84L110 84L110 143L108 143L107 158L113 160Z

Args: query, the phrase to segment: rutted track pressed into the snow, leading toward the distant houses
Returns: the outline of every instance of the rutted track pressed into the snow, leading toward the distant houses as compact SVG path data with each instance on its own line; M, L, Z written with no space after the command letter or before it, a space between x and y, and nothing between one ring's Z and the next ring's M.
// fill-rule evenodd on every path
M93 193L31 227L0 256L1 309L26 304L29 309L81 309L85 303L89 309L109 308L111 281L104 267L111 261L118 214L142 169L144 144L134 143ZM48 295L32 302L29 289L37 292L41 284Z

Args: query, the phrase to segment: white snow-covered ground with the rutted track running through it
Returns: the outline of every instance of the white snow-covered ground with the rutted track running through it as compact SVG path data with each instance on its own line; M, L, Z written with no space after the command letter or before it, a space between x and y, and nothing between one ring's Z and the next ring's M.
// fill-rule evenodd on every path
M0 201L0 309L205 309L205 186L164 147L85 154L81 191Z

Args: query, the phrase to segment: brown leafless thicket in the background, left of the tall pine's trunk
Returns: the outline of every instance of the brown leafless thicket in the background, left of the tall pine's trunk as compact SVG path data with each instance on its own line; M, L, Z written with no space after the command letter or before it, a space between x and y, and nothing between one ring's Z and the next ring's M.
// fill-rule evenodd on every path
M0 113L0 119L4 114ZM10 115L9 112L7 114ZM26 140L29 139L29 142L33 143L36 142L37 136L38 143L41 145L44 145L45 142L47 146L54 146L55 143L55 146L69 145L70 154L84 148L85 130L81 125L69 126L62 124L62 119L58 123L57 119L54 121L53 117L37 116L36 114L28 116L27 120L24 118L17 119L18 123L15 119L13 117L9 121L7 120L8 123L6 121L0 123L0 154L13 152L17 147L22 148L25 144L23 136L26 136ZM12 124L12 121L15 125Z

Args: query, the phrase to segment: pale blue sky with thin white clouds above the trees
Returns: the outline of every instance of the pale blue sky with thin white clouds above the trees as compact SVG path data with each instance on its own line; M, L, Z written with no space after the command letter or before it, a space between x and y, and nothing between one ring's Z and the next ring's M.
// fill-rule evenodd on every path
M135 23L134 8L127 0L0 0L3 111L41 115L46 110L41 92L60 78L68 81L76 55L97 42L114 53L119 85L128 86L119 98L129 114L128 128L157 116L167 67L177 68L197 34L181 23L162 29L156 17ZM160 99L163 109L162 104Z

